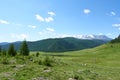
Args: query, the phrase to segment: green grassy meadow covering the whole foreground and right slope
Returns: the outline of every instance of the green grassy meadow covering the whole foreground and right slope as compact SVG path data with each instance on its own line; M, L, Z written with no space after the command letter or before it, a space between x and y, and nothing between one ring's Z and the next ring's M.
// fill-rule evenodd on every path
M0 80L120 80L120 44L64 53L39 53L38 57L36 52L25 57L1 56ZM44 63L46 56L50 65Z

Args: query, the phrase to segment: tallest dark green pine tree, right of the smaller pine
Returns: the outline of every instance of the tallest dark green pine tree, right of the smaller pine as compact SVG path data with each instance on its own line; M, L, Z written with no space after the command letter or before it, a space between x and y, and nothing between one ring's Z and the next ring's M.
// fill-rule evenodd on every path
M28 56L29 55L29 48L27 45L26 40L22 42L22 45L20 47L20 55Z

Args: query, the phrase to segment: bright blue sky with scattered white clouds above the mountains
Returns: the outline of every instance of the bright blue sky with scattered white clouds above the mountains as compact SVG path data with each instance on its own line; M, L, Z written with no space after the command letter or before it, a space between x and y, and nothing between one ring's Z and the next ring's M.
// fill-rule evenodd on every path
M0 42L120 32L120 0L0 0Z

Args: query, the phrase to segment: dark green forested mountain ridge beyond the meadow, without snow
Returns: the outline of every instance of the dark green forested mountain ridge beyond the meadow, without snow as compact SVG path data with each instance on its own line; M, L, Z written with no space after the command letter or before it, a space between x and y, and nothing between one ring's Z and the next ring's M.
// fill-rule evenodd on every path
M45 51L45 52L65 52L93 48L108 42L99 39L78 39L73 37L45 39L34 42L27 42L30 51ZM16 50L19 50L21 42L15 42ZM2 48L8 49L9 44L3 45Z

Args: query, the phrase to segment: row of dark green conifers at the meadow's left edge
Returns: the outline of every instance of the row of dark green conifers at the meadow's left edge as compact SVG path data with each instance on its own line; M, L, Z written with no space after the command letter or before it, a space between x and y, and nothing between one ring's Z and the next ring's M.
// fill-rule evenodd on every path
M8 50L2 50L1 46L0 46L0 53L2 55L9 55L9 56L16 56L17 55L17 51L15 50L14 48L14 44L11 43L9 45L9 48ZM19 49L19 55L23 55L23 56L28 56L29 55L29 48L28 48L28 45L27 45L27 42L26 40L24 40L20 46L20 49Z

